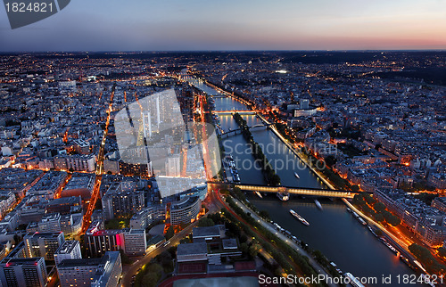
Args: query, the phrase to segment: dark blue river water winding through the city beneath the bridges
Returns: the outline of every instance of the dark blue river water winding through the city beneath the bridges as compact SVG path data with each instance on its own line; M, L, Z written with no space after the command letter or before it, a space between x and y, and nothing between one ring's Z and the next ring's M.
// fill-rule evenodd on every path
M208 94L219 94L209 86L194 83ZM216 97L215 111L246 111L247 107L229 97ZM244 116L249 126L259 124L256 116ZM238 128L231 115L219 116L220 127L225 131ZM263 147L263 152L271 161L273 168L281 177L283 185L296 187L324 188L325 185L306 168L280 139L269 129L252 131L252 136ZM254 162L242 135L233 135L223 139L227 153L235 159L242 184L264 184L259 167ZM294 176L297 172L300 179ZM359 224L358 220L346 211L342 201L319 199L323 210L319 210L314 198L305 199L291 195L290 201L279 201L276 196L268 195L262 199L248 194L251 201L260 210L267 210L271 219L293 235L310 245L312 249L321 250L329 260L333 260L343 272L350 272L357 277L375 277L373 286L389 286L382 283L383 276L391 275L391 285L397 284L397 276L414 275L414 272L392 253L384 244ZM294 209L310 222L302 225L291 216L289 209ZM370 284L368 284L370 285ZM400 285L403 285L402 283ZM421 286L421 285L419 285Z

